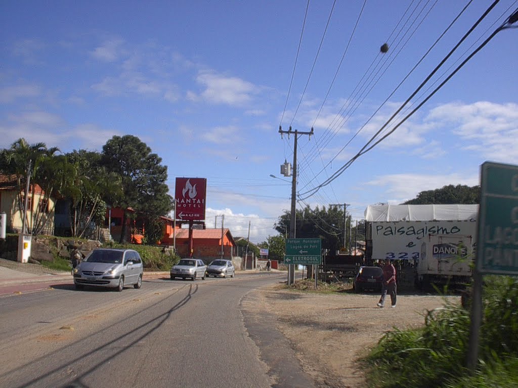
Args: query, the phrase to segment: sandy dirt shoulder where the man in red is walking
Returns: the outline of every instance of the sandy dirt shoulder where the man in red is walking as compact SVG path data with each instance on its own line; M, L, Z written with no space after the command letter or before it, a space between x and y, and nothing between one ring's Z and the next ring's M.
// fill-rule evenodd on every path
M397 307L379 308L378 294L318 294L265 290L256 308L276 317L304 371L316 386L365 386L357 360L394 327L424 325L427 310L441 307L442 296L398 295ZM388 296L387 296L388 297ZM458 301L450 296L448 299Z

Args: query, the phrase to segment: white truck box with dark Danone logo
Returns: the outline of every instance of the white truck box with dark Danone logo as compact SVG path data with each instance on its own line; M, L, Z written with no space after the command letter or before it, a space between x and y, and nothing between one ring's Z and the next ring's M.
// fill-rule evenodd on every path
M421 243L415 283L420 289L431 285L464 285L471 278L473 262L471 235L428 234Z

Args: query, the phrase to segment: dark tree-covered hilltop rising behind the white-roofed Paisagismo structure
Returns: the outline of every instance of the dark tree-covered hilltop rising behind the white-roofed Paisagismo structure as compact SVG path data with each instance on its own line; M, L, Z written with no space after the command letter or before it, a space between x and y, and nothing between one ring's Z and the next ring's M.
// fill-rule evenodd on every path
M480 186L448 185L440 189L421 191L404 205L477 204L480 203Z

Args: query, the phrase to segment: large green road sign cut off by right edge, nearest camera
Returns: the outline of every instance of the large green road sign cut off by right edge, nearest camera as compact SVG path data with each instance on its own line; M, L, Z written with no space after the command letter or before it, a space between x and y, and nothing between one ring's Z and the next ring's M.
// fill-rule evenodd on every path
M483 163L478 233L477 270L518 275L518 166Z

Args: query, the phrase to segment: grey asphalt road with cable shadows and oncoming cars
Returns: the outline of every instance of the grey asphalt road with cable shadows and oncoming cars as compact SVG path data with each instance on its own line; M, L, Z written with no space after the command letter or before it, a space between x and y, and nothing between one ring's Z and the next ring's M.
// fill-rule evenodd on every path
M121 293L56 284L4 295L0 387L309 386L282 338L284 368L261 354L276 338L271 322L241 311L243 299L284 280L163 278Z

